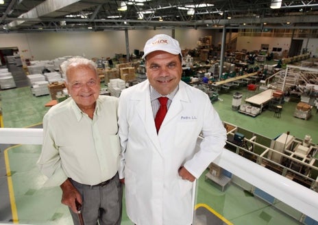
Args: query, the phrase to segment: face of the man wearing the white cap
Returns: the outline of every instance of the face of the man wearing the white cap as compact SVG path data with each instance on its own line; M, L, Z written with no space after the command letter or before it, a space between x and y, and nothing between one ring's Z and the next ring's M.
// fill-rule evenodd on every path
M149 53L146 70L151 86L160 94L167 95L175 90L182 76L180 55L165 51Z

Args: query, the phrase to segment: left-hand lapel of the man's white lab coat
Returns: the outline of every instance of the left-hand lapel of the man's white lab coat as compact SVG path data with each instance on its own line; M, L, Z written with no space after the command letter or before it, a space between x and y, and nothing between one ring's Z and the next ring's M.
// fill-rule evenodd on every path
M156 149L161 155L160 142L158 139L156 125L154 122L154 114L152 112L150 93L149 93L149 81L145 81L145 85L140 88L140 91L134 96L138 103L136 105L136 111L140 117L141 122L140 126L145 127L145 131L149 136L149 140L154 144Z

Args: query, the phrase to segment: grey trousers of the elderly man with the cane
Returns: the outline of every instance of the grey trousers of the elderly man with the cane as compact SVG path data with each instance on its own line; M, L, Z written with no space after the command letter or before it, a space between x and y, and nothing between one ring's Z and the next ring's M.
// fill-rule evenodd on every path
M85 225L121 224L123 187L118 174L105 186L82 185L72 180L71 182L82 194L82 215ZM77 213L71 211L71 215L74 225L80 225Z

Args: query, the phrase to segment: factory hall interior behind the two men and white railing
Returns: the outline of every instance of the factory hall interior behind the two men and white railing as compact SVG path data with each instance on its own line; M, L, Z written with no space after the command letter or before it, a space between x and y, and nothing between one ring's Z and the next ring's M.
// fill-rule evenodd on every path
M59 66L72 56L93 59L101 94L119 96L147 79L145 42L168 34L182 47L182 80L219 112L225 148L317 198L317 10L313 0L0 1L0 127L41 128L69 97ZM72 224L60 188L43 187L40 145L0 142L0 154L0 223ZM132 224L125 209L122 224ZM193 224L318 221L211 163Z

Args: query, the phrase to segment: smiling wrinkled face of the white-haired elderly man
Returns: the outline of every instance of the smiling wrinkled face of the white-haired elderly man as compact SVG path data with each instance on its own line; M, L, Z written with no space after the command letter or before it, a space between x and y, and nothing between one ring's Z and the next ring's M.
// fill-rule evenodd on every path
M79 109L95 107L100 82L95 70L86 65L72 66L67 70L66 88Z

